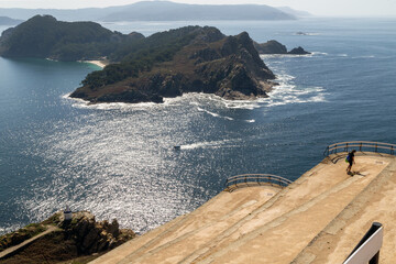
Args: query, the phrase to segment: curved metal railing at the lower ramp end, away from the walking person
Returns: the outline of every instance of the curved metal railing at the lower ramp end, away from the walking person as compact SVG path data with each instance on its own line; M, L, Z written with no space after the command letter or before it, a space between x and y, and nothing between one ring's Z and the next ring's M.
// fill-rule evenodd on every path
M261 185L271 185L277 187L286 187L293 182L273 174L241 174L237 176L229 177L224 184L226 191L233 191L239 187L246 186L261 186Z

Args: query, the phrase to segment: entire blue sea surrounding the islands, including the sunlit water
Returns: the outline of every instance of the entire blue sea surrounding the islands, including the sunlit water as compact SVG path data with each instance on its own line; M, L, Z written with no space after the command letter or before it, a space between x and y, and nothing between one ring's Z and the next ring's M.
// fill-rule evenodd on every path
M0 57L0 233L66 205L144 233L219 194L229 176L295 180L329 144L396 143L396 19L103 26L150 35L188 24L312 54L262 56L279 82L266 99L94 106L67 95L97 66Z

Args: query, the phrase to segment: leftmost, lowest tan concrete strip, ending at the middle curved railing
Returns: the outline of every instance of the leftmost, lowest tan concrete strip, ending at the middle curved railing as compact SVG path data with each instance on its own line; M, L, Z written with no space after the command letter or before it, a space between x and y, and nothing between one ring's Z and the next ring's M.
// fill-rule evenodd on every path
M197 210L129 241L91 263L180 262L262 207L279 190L275 186L255 186L222 191Z

